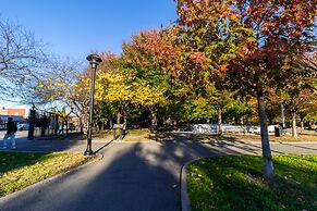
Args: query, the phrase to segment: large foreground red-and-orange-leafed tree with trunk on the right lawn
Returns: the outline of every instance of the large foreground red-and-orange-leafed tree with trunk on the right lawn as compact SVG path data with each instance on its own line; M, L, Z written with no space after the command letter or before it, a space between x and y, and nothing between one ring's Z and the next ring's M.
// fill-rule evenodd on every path
M267 131L268 87L283 89L294 58L312 51L316 3L313 0L176 0L187 44L210 60L211 73L231 89L257 98L264 174L275 175Z

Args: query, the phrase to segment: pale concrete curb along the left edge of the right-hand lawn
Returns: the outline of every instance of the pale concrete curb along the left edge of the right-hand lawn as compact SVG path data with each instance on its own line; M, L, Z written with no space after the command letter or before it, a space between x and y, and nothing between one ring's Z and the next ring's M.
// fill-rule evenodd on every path
M193 162L190 161L186 164L184 164L181 169L181 210L182 211L192 211L191 208L191 200L190 200L190 196L187 193L187 182L186 182L186 169L188 166L188 164Z

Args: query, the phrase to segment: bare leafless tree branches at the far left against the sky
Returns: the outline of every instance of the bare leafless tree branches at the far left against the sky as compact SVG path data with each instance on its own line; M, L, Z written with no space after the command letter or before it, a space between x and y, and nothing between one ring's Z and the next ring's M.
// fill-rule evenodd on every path
M0 99L24 98L25 86L41 75L47 61L44 50L33 33L0 16Z

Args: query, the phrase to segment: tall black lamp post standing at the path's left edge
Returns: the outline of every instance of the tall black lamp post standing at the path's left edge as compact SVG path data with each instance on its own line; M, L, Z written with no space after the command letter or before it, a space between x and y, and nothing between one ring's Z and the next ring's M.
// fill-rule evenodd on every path
M87 149L84 156L92 156L94 151L92 150L92 137L93 137L93 113L94 113L94 98L95 98L95 80L96 71L101 58L98 54L90 54L87 57L89 64L92 65L92 90L90 90L90 105L89 105L89 119L88 119L88 134L87 134Z

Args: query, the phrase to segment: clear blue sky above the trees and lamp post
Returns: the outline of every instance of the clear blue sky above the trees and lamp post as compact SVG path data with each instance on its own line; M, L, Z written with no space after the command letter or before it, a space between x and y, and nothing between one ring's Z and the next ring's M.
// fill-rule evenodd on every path
M143 29L176 18L173 0L0 0L0 15L17 22L60 55L85 59L92 50L120 53Z

